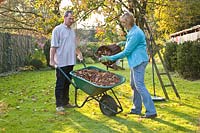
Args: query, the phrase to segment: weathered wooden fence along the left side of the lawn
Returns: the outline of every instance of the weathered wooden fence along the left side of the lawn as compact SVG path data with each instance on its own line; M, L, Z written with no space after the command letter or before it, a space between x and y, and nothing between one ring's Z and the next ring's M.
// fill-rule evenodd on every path
M0 33L0 73L26 65L33 50L32 37Z

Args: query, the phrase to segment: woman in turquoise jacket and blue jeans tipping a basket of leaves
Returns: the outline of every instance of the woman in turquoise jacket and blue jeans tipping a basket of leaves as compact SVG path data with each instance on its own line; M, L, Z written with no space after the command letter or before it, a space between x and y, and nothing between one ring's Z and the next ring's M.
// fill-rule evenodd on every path
M142 118L155 118L156 109L151 96L144 84L145 68L148 64L148 55L146 51L146 38L144 32L135 25L134 18L130 13L125 13L120 18L121 24L128 30L125 45L122 52L112 56L102 56L102 61L115 61L127 57L131 69L131 88L133 94L133 107L129 114L140 115L142 111L142 102L146 108L145 115Z

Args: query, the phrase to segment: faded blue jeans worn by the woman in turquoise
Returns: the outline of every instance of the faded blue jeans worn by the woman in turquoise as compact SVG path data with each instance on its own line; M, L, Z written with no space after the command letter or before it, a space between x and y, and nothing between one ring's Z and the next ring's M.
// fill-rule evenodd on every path
M148 62L143 62L140 65L131 68L131 88L133 89L133 108L131 111L136 114L141 114L142 102L146 108L146 115L156 114L156 109L144 84L145 68Z

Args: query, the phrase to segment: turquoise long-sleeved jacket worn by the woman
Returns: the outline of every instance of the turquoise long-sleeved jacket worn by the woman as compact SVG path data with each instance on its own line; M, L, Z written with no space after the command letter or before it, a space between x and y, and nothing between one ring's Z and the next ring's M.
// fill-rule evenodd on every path
M129 67L136 67L142 62L149 60L146 49L146 38L144 32L134 25L126 36L126 44L123 51L109 56L111 61L127 57Z

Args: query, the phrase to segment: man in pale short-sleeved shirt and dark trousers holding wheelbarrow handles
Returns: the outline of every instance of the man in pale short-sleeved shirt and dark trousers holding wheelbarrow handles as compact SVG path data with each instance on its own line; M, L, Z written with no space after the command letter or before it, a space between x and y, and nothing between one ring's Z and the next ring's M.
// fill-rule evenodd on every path
M73 12L66 11L64 15L64 23L56 26L52 32L51 48L50 48L50 65L60 67L66 75L71 79L69 74L76 64L76 55L82 60L82 54L76 47L76 36L71 25L74 23ZM62 112L66 108L73 107L69 103L69 85L70 82L56 68L56 111Z

